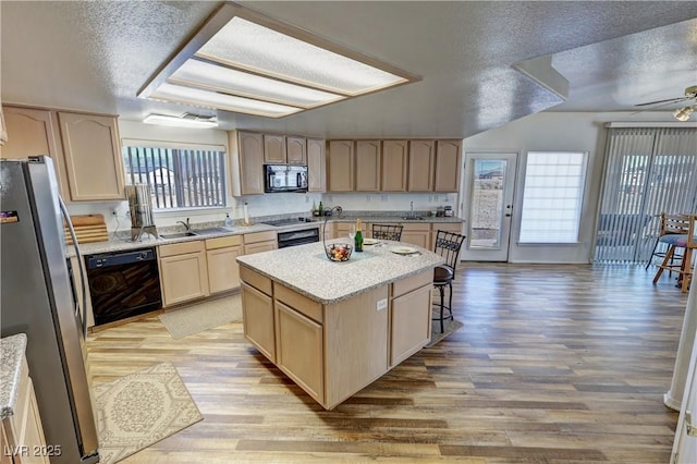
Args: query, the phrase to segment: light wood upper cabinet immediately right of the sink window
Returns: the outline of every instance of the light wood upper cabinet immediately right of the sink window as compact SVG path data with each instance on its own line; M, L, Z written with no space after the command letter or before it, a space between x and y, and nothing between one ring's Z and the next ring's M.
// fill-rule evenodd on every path
M261 134L245 131L228 133L230 185L232 195L264 193L264 141Z

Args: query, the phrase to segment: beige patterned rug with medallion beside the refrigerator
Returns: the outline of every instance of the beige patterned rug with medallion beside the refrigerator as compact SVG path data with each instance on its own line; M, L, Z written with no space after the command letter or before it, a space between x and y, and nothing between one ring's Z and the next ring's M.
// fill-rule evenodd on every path
M204 417L170 363L94 388L99 464L113 464Z

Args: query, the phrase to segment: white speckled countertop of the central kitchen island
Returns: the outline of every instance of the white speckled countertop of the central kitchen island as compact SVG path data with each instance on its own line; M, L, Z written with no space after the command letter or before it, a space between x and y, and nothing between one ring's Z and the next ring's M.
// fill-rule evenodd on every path
M327 243L341 243L332 240ZM392 249L408 246L418 251L399 255ZM329 260L321 243L240 256L237 262L322 304L333 304L443 264L428 249L408 243L381 241L353 253L344 262Z

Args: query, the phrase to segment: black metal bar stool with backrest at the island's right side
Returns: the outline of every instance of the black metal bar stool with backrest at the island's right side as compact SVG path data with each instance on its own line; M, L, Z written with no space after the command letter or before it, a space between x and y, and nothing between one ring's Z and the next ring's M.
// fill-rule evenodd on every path
M440 293L440 316L433 320L440 320L440 333L444 331L444 320L453 320L453 280L455 280L455 268L460 259L460 248L465 241L465 235L453 232L438 231L436 234L436 245L433 252L445 258L445 264L437 266L433 270L433 286ZM445 286L448 286L448 306L444 304ZM449 315L444 316L448 309Z

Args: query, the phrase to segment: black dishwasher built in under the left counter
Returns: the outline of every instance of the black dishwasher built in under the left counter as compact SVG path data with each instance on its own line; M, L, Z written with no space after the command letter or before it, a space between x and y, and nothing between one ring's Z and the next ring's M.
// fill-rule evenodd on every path
M95 326L162 307L155 248L86 255Z

